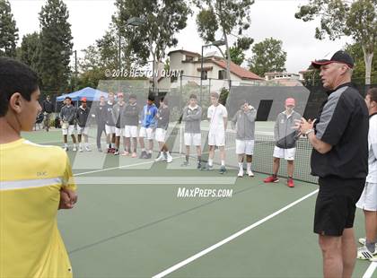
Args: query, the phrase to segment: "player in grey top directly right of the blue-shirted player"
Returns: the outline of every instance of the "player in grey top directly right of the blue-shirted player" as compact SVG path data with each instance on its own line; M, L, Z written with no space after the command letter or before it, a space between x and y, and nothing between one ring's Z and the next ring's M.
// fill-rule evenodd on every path
M165 97L162 97L160 100L160 107L157 110L157 114L156 114L156 119L157 119L156 141L158 142L158 146L160 149L160 154L155 159L156 162L166 161L168 163L171 163L172 161L171 153L169 152L168 146L165 143L170 117L171 117L171 112L168 107L168 100L166 100Z

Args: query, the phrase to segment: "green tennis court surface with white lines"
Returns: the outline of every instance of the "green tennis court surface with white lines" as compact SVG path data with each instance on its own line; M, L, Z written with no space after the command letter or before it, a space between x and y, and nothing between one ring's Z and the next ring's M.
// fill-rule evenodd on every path
M24 136L61 145L60 130ZM236 178L232 168L224 176L183 170L179 153L169 165L98 152L68 154L79 202L59 212L58 225L75 277L322 276L311 231L313 183L296 181L288 188L284 178L264 184L266 174ZM182 188L228 196L180 197ZM364 235L360 211L355 233ZM370 265L357 261L354 277L363 277Z

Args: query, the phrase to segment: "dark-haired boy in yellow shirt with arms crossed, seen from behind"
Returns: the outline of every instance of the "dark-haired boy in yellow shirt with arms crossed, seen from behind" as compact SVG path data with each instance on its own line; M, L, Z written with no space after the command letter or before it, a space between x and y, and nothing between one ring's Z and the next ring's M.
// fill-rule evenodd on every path
M73 208L75 182L66 152L31 143L40 112L38 77L0 57L0 277L72 277L57 210Z

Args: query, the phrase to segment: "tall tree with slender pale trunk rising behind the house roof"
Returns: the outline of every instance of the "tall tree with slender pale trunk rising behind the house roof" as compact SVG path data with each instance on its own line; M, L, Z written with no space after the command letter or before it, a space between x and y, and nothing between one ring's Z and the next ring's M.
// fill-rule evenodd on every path
M242 35L242 31L250 27L250 6L254 4L254 0L193 0L193 2L200 9L197 13L197 30L200 38L208 43L215 41L217 30L223 35L226 55L220 48L219 50L226 57L226 74L230 79L232 56L228 36L232 35L233 30L238 29L237 45L242 50L250 48L253 39L239 36Z

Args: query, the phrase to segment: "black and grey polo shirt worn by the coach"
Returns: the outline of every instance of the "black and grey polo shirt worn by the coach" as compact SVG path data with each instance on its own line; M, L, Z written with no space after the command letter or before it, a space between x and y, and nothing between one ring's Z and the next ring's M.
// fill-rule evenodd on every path
M311 152L311 175L326 178L365 178L368 173L368 109L360 93L345 83L334 91L317 117L318 139L332 145L320 154Z

